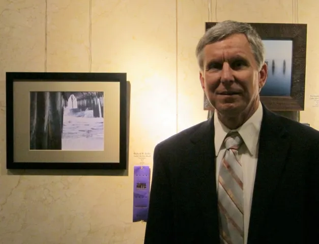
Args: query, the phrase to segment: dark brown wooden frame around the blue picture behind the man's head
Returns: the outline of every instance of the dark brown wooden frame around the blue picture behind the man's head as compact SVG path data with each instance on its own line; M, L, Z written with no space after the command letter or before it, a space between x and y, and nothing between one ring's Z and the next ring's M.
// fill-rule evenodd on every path
M206 22L205 30L214 26L217 22ZM252 25L263 41L292 41L291 52L291 78L289 78L289 94L262 95L260 101L272 111L303 111L305 100L305 74L306 74L306 45L307 45L307 24L294 23L249 23ZM266 50L267 56L267 50ZM288 60L289 61L289 60ZM283 67L285 70L285 61ZM268 65L270 67L270 65ZM274 67L274 59L272 68ZM289 67L290 69L290 67ZM268 74L270 74L270 68ZM274 70L274 69L272 69ZM287 73L289 74L289 73ZM267 78L269 79L269 77ZM276 89L272 89L276 90ZM204 110L214 110L204 93Z

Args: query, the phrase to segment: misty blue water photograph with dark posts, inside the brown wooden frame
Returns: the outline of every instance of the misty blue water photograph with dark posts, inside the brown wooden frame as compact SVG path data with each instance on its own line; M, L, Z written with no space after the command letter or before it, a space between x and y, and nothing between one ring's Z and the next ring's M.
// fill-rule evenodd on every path
M260 91L263 97L285 97L291 94L292 40L263 40L268 77Z

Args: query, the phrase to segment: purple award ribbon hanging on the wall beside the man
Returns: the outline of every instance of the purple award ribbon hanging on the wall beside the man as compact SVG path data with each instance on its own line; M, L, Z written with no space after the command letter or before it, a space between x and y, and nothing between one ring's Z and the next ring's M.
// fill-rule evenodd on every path
M134 166L133 222L147 221L150 198L149 166Z

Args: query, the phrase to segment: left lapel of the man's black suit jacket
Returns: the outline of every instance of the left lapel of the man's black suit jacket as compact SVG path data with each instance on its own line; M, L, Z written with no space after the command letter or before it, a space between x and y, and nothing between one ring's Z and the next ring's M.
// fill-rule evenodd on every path
M196 162L198 170L199 188L199 211L202 215L202 230L209 239L219 241L218 212L216 194L216 171L215 171L215 146L214 146L214 116L204 122L191 137L193 143L191 161Z

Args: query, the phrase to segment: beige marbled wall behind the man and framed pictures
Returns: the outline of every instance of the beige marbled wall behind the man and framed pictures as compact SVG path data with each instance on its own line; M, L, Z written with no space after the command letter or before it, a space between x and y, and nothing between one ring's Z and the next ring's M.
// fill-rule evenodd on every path
M212 21L294 21L288 0L212 0ZM0 2L0 243L142 243L132 223L134 152L206 119L194 48L209 20L206 0ZM308 23L306 106L301 121L319 129L309 96L319 94L319 2L299 1ZM45 54L47 54L45 62ZM5 72L126 72L131 82L127 172L7 171ZM152 161L147 163L152 165ZM61 176L62 175L62 176Z

